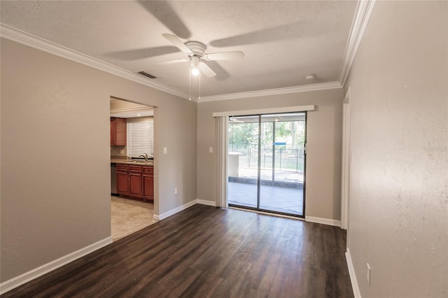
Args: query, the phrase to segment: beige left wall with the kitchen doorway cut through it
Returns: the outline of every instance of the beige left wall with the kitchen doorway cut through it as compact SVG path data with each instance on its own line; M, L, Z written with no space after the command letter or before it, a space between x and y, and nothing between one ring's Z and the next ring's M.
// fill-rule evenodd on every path
M196 199L197 104L1 39L2 282L111 235L111 96L158 106L155 213Z

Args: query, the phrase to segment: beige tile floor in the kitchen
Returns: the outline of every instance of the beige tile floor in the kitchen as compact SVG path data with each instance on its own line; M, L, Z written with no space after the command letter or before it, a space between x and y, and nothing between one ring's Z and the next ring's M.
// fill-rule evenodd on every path
M111 234L113 241L153 225L154 204L111 196Z

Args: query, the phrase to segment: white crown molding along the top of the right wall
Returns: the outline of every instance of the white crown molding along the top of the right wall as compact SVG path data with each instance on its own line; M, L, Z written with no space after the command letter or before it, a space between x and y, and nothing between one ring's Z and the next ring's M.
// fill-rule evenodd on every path
M344 86L347 78L349 77L351 65L356 57L356 52L367 24L370 20L370 15L374 8L376 0L359 0L358 6L356 6L355 17L353 17L353 23L351 24L349 41L345 48L344 59L342 60L342 67L339 73L339 83Z

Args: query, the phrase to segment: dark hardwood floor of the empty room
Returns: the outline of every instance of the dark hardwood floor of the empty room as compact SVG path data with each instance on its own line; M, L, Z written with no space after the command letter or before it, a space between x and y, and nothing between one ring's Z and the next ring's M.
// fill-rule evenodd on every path
M1 297L353 297L338 227L195 205Z

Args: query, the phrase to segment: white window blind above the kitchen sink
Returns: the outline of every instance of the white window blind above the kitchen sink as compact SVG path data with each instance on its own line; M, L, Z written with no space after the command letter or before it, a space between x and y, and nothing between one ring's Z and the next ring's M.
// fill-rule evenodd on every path
M154 120L127 121L127 156L154 156Z

